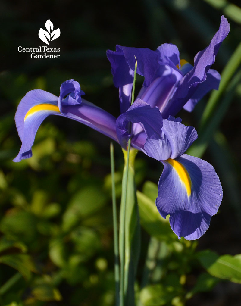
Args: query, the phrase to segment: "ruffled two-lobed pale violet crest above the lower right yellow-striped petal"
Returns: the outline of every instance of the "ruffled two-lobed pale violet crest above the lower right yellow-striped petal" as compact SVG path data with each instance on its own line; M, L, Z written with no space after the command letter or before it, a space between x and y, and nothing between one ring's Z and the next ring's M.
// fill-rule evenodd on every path
M162 124L162 138L147 138L144 145L144 152L159 161L175 159L182 155L198 137L194 127L183 125L180 118L170 116L164 119Z

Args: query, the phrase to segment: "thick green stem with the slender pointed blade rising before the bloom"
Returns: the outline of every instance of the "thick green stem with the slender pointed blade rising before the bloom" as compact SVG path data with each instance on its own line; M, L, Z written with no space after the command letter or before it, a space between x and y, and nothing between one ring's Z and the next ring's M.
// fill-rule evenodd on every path
M135 57L136 60L136 57ZM134 102L137 60L135 62L131 105ZM131 132L131 123L129 126ZM128 140L127 151L123 150L125 165L122 178L120 208L120 306L134 305L134 276L139 256L139 215L134 183L134 160L137 150L131 149ZM134 243L133 243L134 240ZM135 246L134 246L135 245ZM134 247L134 249L133 249ZM132 258L131 258L132 257ZM130 274L129 274L130 271Z

